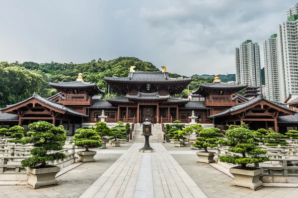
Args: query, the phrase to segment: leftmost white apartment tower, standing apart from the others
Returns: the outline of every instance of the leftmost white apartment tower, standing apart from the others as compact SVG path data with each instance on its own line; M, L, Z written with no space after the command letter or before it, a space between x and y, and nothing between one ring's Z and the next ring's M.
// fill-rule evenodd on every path
M236 48L235 64L237 82L261 88L260 46L258 43L246 40L240 45L240 48Z

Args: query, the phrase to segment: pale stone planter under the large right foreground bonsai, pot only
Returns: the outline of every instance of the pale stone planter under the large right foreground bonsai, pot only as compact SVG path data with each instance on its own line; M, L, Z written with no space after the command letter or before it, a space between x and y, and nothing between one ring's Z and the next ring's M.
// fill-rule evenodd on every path
M256 190L263 186L263 182L260 181L260 175L263 173L263 168L254 167L255 170L243 170L241 166L235 166L229 169L230 173L234 176L232 186L240 186Z

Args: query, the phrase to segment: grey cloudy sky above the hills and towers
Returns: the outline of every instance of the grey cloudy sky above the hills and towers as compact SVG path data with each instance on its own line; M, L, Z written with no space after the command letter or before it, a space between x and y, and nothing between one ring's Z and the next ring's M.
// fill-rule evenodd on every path
M135 56L183 75L235 73L235 47L251 39L263 55L263 40L277 32L296 3L0 0L0 61L83 63Z

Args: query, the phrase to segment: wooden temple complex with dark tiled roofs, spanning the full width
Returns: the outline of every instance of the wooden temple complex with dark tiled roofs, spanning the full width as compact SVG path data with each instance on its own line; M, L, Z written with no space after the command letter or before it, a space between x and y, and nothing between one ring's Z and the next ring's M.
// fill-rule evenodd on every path
M74 82L49 83L59 93L43 98L37 94L0 109L1 127L28 124L45 120L63 125L70 135L90 123L100 121L104 111L107 123L117 121L141 123L190 123L194 111L197 123L206 127L246 122L252 129L272 128L284 133L297 129L298 115L287 104L272 103L262 97L259 88L237 83L222 83L215 75L213 83L201 84L190 99L179 96L192 82L192 77L171 78L166 67L162 71L135 71L127 77L104 77L109 87L120 97L103 98L105 91L96 83L84 82L78 74ZM245 89L245 96L237 92ZM293 108L291 108L293 109ZM297 125L297 126L296 126Z

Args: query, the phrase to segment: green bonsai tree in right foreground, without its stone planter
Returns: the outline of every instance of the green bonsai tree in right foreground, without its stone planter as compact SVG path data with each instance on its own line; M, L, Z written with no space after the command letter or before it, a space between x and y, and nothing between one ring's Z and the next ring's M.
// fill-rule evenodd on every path
M242 169L247 169L246 165L249 163L269 161L268 157L260 156L266 154L267 151L255 146L253 142L255 135L249 130L248 125L241 123L240 126L229 127L225 135L229 140L230 148L228 148L228 151L240 153L242 156L224 155L220 157L220 161L241 164Z

